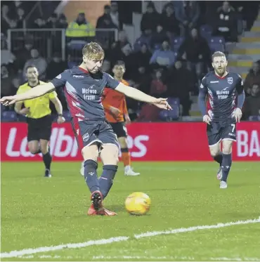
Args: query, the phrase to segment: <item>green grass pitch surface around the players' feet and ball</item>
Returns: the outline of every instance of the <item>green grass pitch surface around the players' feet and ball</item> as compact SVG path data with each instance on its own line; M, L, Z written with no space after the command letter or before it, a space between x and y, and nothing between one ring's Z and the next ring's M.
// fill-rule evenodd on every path
M41 162L1 164L1 253L58 244L128 236L127 241L63 249L3 261L210 261L260 258L260 223L145 237L142 232L244 221L260 216L260 163L234 162L228 189L216 180L213 162L134 163L141 176L119 171L106 208L116 217L89 217L89 189L80 163L54 162L44 178ZM98 173L101 172L99 165ZM131 192L152 200L146 216L130 216L124 200ZM233 259L232 259L233 258ZM217 260L215 259L215 260Z

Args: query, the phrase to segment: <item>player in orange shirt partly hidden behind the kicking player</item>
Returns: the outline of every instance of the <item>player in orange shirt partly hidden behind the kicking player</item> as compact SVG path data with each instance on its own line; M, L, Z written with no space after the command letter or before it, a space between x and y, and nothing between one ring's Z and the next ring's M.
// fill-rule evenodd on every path
M124 79L124 72L126 71L124 62L118 61L113 67L112 72L117 81L121 81L126 86L129 86ZM129 148L127 146L127 130L125 124L130 124L131 120L126 107L126 98L123 93L115 90L105 89L103 93L103 107L105 110L105 117L110 122L112 129L117 135L118 142L122 152L122 160L124 162L124 175L125 176L138 176L131 168L131 157Z

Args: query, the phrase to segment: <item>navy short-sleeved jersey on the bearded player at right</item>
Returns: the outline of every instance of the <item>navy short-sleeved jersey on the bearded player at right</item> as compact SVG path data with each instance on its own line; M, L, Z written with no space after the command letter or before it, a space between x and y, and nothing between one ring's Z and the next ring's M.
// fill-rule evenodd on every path
M239 74L228 72L226 77L221 78L209 72L202 79L199 96L209 96L212 122L226 122L233 119L236 97L243 92L243 81Z

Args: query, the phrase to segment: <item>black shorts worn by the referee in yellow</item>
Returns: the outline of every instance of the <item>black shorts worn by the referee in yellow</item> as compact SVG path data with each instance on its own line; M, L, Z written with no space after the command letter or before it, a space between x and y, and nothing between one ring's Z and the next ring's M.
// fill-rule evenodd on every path
M27 131L27 141L32 140L50 140L51 138L51 124L52 124L51 114L46 115L38 119L27 117L28 131Z

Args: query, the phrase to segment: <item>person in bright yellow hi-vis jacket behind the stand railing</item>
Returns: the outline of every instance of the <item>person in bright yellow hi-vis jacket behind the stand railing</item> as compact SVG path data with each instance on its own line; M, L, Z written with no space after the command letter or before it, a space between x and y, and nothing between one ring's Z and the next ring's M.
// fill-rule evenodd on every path
M72 39L84 39L86 37L95 37L95 35L95 29L86 20L84 12L80 12L77 19L70 22L66 30L66 37L71 37Z

